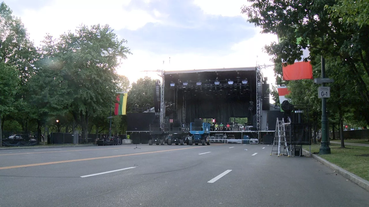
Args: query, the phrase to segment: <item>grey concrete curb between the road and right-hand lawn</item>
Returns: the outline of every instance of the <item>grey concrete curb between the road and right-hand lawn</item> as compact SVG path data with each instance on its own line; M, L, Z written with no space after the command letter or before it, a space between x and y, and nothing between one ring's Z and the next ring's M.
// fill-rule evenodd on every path
M305 153L309 154L309 151L304 150L304 149L303 149L303 151ZM364 179L360 178L359 176L355 175L354 173L346 171L345 169L342 169L341 167L339 167L335 164L332 164L332 163L328 162L327 160L325 160L325 159L323 159L323 158L321 158L321 157L319 157L315 154L311 154L311 157L313 157L317 161L321 162L323 165L325 165L328 168L336 171L340 175L344 176L346 179L351 180L356 185L362 187L363 189L365 189L366 191L369 192L369 181L368 180L364 180Z

